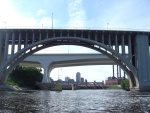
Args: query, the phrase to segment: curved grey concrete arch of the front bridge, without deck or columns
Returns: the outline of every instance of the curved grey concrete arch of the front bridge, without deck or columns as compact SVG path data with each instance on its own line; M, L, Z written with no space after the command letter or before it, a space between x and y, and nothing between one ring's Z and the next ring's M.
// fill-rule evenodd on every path
M75 43L72 43L72 41ZM108 56L109 58L114 60L116 64L118 64L127 73L128 78L130 80L130 87L131 88L138 87L139 83L136 77L137 69L121 54L116 52L111 47L103 43L100 43L98 41L86 39L83 37L69 37L69 36L53 37L53 38L47 38L41 41L37 41L27 46L26 48L21 49L16 54L12 55L0 68L0 76L2 78L1 82L5 82L11 70L17 64L19 64L19 62L23 61L23 59L25 59L27 56L47 47L52 47L57 45L67 45L67 44L88 47Z

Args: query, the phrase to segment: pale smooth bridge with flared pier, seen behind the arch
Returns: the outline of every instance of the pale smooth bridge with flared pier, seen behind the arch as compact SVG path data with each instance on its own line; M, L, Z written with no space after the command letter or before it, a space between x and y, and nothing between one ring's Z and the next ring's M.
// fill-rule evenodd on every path
M33 54L19 65L43 68L42 83L50 83L50 73L57 67L115 65L115 62L103 54Z

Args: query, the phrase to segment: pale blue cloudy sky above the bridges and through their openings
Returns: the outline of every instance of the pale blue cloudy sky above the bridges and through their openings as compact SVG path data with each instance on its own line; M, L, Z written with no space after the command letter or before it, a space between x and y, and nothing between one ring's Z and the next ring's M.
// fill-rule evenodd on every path
M53 24L54 29L150 30L149 4L150 0L0 0L0 28L52 28ZM97 52L57 46L38 53ZM75 79L76 72L88 81L112 76L112 66L61 67L51 72L54 80L58 70L63 80L65 76Z

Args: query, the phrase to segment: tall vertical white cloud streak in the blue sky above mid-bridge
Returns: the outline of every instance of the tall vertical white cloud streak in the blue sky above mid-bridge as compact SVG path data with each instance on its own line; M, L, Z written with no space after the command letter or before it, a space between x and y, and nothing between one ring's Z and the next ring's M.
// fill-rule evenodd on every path
M82 7L82 0L70 0L68 4L69 23L68 27L85 27L85 11Z

